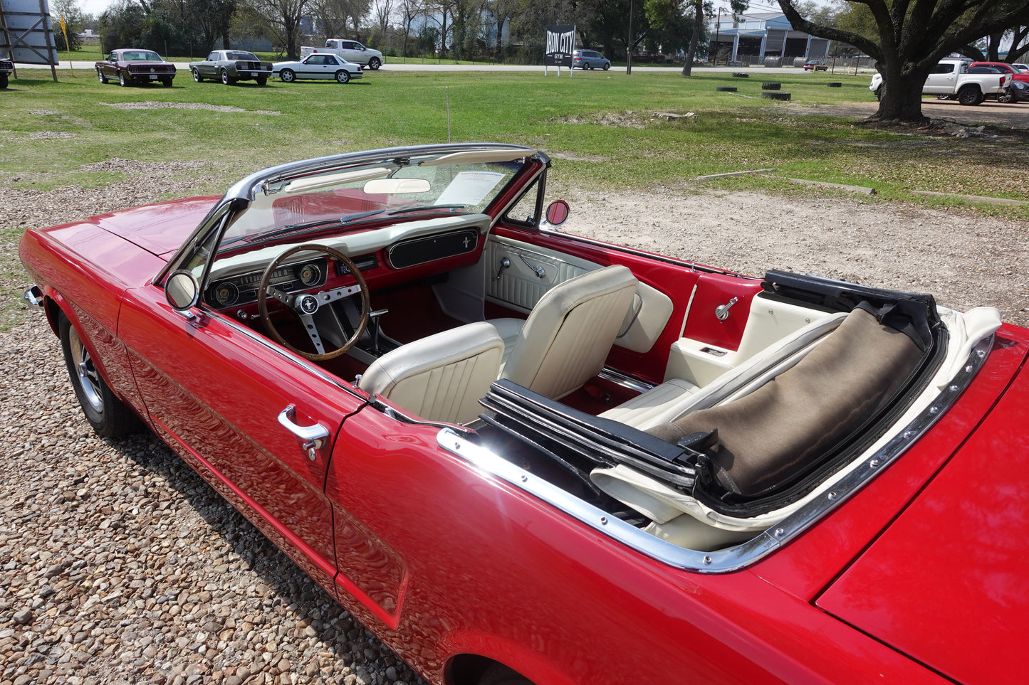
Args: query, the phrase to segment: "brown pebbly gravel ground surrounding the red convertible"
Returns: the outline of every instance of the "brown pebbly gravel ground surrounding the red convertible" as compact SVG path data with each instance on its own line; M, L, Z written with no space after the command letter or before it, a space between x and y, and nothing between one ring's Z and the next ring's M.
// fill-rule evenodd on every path
M192 194L204 163L134 185L3 189L0 226ZM99 166L98 169L101 169ZM191 180L188 180L191 178ZM566 230L750 274L767 267L992 304L1029 325L1026 223L850 197L567 192ZM0 293L16 238L0 239ZM421 682L151 435L98 439L39 310L0 334L0 685Z

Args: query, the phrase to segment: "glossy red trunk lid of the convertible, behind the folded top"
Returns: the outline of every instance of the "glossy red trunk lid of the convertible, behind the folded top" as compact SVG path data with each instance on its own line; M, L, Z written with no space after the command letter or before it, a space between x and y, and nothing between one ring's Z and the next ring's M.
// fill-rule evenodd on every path
M1020 373L819 608L955 682L1005 682L1021 670L1029 628L1027 393L1029 373Z

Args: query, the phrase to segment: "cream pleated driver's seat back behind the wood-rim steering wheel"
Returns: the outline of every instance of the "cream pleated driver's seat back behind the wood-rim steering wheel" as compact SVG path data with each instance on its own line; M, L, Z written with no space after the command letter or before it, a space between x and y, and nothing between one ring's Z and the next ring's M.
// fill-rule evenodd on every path
M409 342L377 359L361 390L381 395L427 421L469 423L478 416L504 352L486 322L471 323Z

